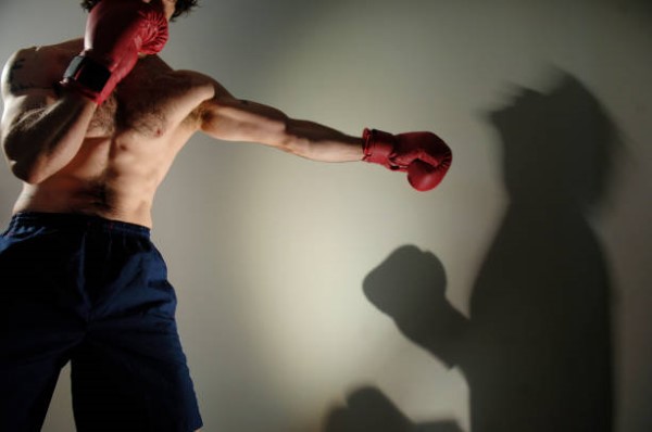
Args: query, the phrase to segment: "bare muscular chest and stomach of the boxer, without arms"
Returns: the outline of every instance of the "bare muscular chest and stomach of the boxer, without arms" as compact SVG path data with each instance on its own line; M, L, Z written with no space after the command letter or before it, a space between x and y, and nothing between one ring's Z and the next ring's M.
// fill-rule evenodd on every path
M42 68L38 80L61 94L58 81L82 48L74 40L28 50L23 74L38 77ZM158 56L140 59L97 109L77 154L45 181L24 183L14 212L84 213L151 226L156 188L199 129L199 106L213 93L200 74L173 71Z

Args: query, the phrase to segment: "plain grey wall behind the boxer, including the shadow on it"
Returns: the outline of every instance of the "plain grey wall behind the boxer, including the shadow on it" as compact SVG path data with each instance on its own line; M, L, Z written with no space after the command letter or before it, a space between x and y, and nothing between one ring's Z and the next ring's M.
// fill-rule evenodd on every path
M652 430L645 3L204 0L175 23L174 67L454 151L418 193L192 139L153 233L204 430ZM83 26L76 1L2 2L0 56ZM3 224L18 186L0 167ZM45 431L72 429L67 374Z

